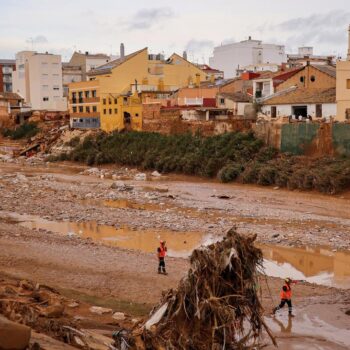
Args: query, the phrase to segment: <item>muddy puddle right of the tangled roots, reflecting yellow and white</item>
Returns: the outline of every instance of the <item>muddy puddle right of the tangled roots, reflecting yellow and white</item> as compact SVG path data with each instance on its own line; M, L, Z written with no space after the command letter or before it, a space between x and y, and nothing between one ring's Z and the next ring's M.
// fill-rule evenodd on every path
M264 254L265 273L268 276L350 288L350 251L273 245L259 245L259 248Z

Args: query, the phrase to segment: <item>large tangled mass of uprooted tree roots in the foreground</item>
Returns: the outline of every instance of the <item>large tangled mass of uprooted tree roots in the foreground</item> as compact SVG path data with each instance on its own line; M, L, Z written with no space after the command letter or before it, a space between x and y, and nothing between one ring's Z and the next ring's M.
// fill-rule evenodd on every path
M139 349L256 349L263 328L256 236L231 229L218 243L195 250L177 290L169 290L142 328Z

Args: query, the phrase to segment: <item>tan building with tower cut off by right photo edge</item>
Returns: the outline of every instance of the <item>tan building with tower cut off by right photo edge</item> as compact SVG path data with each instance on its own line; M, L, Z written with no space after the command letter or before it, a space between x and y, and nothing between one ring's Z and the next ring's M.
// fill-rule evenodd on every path
M350 120L350 26L347 60L337 62L337 120Z

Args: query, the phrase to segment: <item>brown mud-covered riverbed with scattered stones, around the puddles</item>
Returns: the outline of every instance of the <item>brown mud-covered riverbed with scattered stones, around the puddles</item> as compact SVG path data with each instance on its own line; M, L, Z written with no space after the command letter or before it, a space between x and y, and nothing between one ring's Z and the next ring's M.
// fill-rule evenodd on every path
M94 223L94 239L98 225L127 227L141 235L155 230L160 235L171 232L180 237L187 232L212 239L236 225L241 233L256 233L259 243L350 247L347 194L330 197L174 175L147 174L148 180L137 181L137 173L112 167L101 171L70 164L0 163L1 272L52 286L69 298L142 316L164 289L176 287L188 269L187 259L169 257L169 275L162 276L156 273L157 260L148 249L130 249L132 245L122 249L109 241L58 234L47 225L33 230L23 221L35 217L58 228L65 222ZM190 250L196 242L183 243ZM153 242L143 244L153 246ZM140 246L135 243L135 247ZM267 280L269 287L264 279L261 286L269 315L282 281ZM286 310L276 319L268 317L283 338L281 348L350 346L349 290L302 283L294 288L294 295L293 320L288 320Z

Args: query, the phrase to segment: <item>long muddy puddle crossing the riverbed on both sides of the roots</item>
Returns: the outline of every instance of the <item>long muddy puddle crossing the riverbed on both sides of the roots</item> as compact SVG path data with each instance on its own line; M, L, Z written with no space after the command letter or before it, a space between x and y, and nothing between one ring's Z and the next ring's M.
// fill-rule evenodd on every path
M119 203L120 204L120 203ZM119 205L118 204L118 205ZM125 206L129 208L129 202ZM137 204L140 205L140 204ZM128 227L98 225L96 222L56 222L37 216L1 213L0 216L17 220L29 229L42 229L64 235L78 235L103 242L106 245L152 253L160 239L167 241L169 256L188 257L200 245L213 243L203 232L175 232L170 230L132 230ZM350 251L332 251L323 247L291 248L258 245L264 254L265 273L268 276L306 280L310 283L350 288Z

